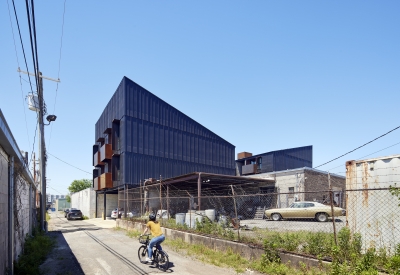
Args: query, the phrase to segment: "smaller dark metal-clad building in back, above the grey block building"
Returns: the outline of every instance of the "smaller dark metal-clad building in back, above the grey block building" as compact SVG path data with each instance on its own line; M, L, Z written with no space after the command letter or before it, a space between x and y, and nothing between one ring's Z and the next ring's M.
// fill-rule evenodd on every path
M236 160L237 174L240 176L302 167L312 167L312 146L272 151L255 156L242 152L238 154Z

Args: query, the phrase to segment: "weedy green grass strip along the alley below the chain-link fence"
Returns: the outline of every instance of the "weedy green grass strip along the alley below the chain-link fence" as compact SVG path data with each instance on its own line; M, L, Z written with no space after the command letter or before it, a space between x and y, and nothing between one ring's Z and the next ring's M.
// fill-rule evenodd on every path
M236 240L237 232L216 223L197 224L196 229L185 225L176 225L175 220L164 221L164 226L173 229L191 231L193 233L210 234L221 239ZM118 229L124 230L124 229ZM137 238L138 231L129 231L127 235ZM268 229L254 228L252 231L242 231L240 242L258 244L264 247L264 254L260 260L248 261L228 250L226 252L214 251L202 245L187 244L182 240L167 239L165 244L176 251L181 251L203 262L216 266L230 267L236 272L246 269L257 270L266 274L332 274L332 275L376 275L379 270L388 274L400 275L400 244L392 255L385 249L369 249L362 252L361 236L351 234L348 228L338 232L337 245L332 233L324 232L276 232ZM318 268L308 268L300 263L299 268L282 264L279 252L295 252L310 255L319 259ZM330 266L323 267L322 260L332 261Z

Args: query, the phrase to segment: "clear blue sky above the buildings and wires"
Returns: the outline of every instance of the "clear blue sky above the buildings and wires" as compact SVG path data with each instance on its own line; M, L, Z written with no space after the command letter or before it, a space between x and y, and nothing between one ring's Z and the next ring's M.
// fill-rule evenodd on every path
M25 4L16 2L32 70ZM67 0L59 71L63 7L35 3L40 70L61 79L57 92L44 82L48 112L58 117L46 143L85 171L94 125L123 76L236 153L313 145L317 166L400 125L399 1ZM17 73L26 67L11 0L0 2L0 29L0 109L31 153L36 115L24 99L28 77L21 85ZM400 129L319 169L343 175L346 160L399 142ZM369 157L399 153L397 144ZM59 194L91 175L50 155L48 178L47 192Z

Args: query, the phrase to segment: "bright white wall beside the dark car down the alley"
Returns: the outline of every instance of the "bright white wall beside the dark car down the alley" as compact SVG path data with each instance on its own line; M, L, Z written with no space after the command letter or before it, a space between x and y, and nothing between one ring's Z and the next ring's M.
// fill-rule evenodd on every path
M71 195L71 207L78 208L82 214L93 219L96 217L96 192L89 187Z

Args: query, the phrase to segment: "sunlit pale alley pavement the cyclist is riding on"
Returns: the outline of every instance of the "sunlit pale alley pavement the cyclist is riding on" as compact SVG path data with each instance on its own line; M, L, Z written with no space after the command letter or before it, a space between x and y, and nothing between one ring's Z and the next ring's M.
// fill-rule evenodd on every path
M50 214L49 231L61 232L61 239L65 239L72 257L76 258L84 274L153 274L164 272L152 265L141 264L137 251L140 246L138 240L125 235L125 231L113 230L114 220L103 221L92 219L85 221L67 221L64 215L58 212ZM169 255L170 268L165 273L176 275L186 274L236 274L234 270L204 264L182 256L165 246ZM59 250L58 248L55 251ZM51 253L54 254L54 253ZM59 256L57 256L59 257ZM65 257L65 256L63 256ZM53 270L51 263L57 266L58 258L50 255L42 266L47 274L72 274L59 273ZM50 263L50 264L49 264ZM75 274L75 273L73 273Z

